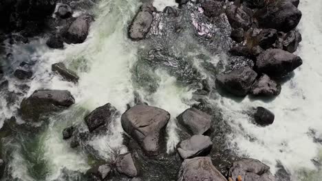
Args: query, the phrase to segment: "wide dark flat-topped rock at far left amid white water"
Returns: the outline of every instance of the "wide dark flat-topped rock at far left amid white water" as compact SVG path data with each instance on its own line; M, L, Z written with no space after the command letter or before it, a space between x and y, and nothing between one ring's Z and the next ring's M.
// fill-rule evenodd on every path
M35 90L20 104L23 119L39 121L42 114L57 112L72 106L75 99L67 90Z

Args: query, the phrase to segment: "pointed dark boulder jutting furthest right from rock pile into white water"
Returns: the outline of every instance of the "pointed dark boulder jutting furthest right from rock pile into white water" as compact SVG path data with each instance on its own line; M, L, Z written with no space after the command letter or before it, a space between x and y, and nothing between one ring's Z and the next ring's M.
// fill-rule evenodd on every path
M268 49L257 57L257 71L266 73L270 77L283 77L301 66L299 56L281 49Z

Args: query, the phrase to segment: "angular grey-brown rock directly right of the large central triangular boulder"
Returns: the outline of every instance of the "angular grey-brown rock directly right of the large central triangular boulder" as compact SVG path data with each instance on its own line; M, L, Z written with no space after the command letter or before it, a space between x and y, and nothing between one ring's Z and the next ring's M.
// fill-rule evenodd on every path
M185 110L177 119L190 134L204 134L211 128L211 116L196 108Z

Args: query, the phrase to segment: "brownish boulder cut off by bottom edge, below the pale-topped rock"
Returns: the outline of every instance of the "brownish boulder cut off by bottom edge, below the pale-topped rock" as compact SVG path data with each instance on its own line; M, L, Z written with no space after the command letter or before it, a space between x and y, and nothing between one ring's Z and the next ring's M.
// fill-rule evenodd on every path
M216 180L226 181L226 178L222 176L211 162L209 157L196 157L192 159L186 159L182 162L178 181L205 181Z

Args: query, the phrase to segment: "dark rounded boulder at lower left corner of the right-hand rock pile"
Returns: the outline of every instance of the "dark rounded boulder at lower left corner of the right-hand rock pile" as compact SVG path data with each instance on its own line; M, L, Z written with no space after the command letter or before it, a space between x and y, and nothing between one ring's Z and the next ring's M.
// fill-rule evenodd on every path
M233 95L243 97L250 91L256 77L255 71L249 67L242 67L229 73L217 75L216 84Z

